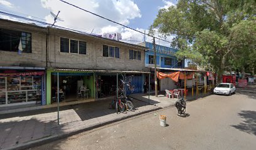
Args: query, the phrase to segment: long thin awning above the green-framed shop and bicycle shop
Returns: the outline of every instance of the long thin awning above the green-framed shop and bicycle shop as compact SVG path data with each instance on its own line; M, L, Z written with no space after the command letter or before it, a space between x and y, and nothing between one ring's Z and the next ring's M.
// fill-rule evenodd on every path
M151 72L147 71L109 71L109 70L88 70L88 69L54 69L54 72L65 72L65 71L72 71L77 73L142 73L142 74L150 74Z

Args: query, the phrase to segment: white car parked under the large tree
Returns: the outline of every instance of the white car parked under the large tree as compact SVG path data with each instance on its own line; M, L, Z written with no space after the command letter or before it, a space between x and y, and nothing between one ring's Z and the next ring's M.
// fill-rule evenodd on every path
M214 88L213 93L231 95L232 93L235 93L235 90L236 88L233 83L220 83Z

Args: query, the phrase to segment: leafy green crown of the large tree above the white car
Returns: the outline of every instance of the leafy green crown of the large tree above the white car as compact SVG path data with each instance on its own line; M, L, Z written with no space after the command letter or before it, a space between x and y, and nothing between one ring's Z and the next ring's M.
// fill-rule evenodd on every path
M255 8L254 0L179 0L177 6L159 10L150 29L176 35L172 46L179 49L178 58L221 75L225 69L255 64Z

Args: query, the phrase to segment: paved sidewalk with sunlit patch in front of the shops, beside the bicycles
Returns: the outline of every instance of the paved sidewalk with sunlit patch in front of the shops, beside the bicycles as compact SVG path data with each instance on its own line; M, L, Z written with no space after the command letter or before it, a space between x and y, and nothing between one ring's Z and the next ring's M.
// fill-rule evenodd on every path
M109 109L110 101L95 101L56 108L0 115L0 149L23 149L93 129L104 124L161 109L134 99L134 111L124 114Z

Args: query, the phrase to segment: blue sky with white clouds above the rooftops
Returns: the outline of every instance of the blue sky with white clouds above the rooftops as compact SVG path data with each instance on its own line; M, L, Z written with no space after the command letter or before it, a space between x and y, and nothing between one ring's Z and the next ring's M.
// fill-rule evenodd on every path
M148 32L149 26L156 19L159 9L174 6L176 0L65 0L80 8L107 17L115 22L132 27L139 31ZM0 11L17 14L19 16L36 19L43 22L53 23L53 16L50 12L57 14L63 21L55 24L63 27L70 27L83 32L93 32L93 34L103 34L104 32L120 32L122 40L125 42L144 41L144 34L131 31L120 25L106 21L88 12L69 6L59 0L0 0ZM5 19L11 17L1 16ZM172 36L166 40L171 41ZM146 41L152 42L152 37L146 36ZM156 40L156 44L169 46L168 42Z

